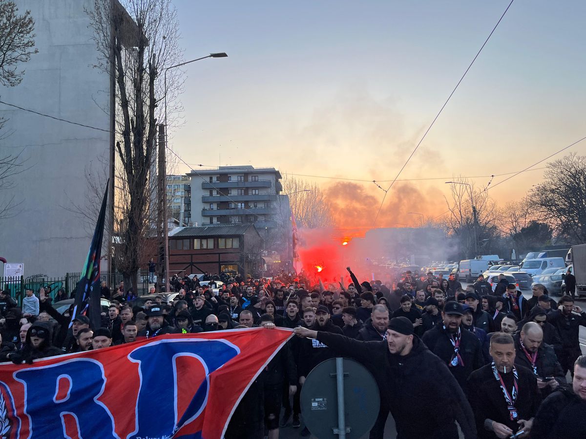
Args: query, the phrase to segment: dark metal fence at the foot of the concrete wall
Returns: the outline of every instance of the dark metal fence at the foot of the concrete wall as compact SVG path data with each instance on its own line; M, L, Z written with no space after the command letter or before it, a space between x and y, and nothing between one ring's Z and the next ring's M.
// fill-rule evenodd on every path
M141 271L138 273L138 277L134 284L135 290L139 296L148 293L149 282L148 282L148 271ZM77 283L81 279L81 272L66 273L63 277L2 277L0 276L0 286L3 290L8 291L18 304L22 303L22 298L25 296L25 290L33 290L38 296L39 290L45 288L45 292L54 299L57 294L57 290L63 288L67 297L70 297L71 293L75 291ZM101 272L100 280L106 282L110 290L117 289L120 282L122 282L122 273L110 273Z

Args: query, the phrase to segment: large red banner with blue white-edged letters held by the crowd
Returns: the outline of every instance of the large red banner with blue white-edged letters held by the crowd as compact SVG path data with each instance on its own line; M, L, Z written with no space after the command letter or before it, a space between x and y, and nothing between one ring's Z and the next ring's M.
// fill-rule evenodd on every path
M292 331L168 334L0 365L0 437L220 439Z

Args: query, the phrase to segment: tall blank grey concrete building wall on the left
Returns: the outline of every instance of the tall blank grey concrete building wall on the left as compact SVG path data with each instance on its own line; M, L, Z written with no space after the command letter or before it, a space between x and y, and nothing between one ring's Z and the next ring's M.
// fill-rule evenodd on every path
M0 136L0 156L22 153L25 172L0 200L15 196L15 217L0 219L0 255L25 263L25 276L62 276L79 271L92 227L67 210L86 206L88 174L103 180L108 163L110 81L97 63L93 30L84 9L93 0L16 0L35 19L36 48L21 84L2 88L2 100L105 131L66 124L0 104L8 119ZM100 197L101 198L101 197ZM99 209L100 199L94 202ZM1 201L0 201L1 203ZM96 209L96 216L97 216ZM105 267L104 267L105 269Z

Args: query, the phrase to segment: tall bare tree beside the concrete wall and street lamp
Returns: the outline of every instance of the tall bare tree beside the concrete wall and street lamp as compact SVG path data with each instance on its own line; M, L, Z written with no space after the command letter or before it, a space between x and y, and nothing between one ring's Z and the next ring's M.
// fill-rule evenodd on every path
M153 197L156 132L167 92L173 114L180 72L178 18L171 0L95 0L88 11L101 53L96 66L113 75L116 108L114 265L135 286L141 266L156 253L156 201Z

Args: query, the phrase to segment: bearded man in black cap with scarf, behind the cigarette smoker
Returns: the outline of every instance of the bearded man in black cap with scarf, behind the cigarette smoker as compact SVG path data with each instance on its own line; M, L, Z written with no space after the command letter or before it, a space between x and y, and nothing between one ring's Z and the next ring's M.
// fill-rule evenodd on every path
M458 302L449 301L442 312L442 324L423 334L423 342L447 365L462 389L466 380L476 369L484 365L479 339L471 332L462 330L464 309Z

